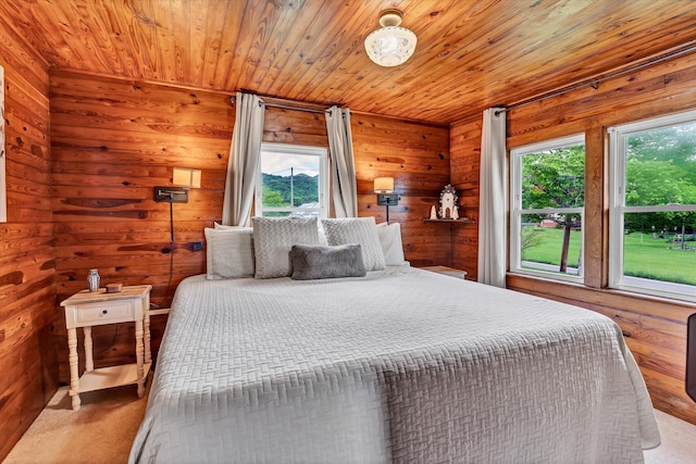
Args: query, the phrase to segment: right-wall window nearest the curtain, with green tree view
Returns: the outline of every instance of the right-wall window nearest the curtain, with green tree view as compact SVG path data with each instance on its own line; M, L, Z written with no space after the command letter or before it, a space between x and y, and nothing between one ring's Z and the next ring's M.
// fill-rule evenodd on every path
M510 272L582 281L585 138L510 151Z

